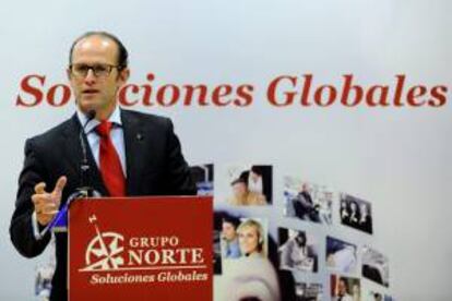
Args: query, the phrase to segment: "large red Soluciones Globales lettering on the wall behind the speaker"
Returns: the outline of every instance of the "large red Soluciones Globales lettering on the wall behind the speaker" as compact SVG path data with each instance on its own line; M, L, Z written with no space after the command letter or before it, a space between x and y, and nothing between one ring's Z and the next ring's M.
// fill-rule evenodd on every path
M316 83L313 74L300 77L281 75L273 79L266 88L266 98L274 107L431 107L439 108L448 101L448 86L408 85L405 74L394 75L391 84L360 85L354 74L342 75L340 84ZM143 84L127 84L118 92L118 101L123 107L249 107L253 103L252 84L159 84L153 73L146 74ZM66 84L46 85L46 75L28 74L20 82L15 98L17 107L63 107L71 98ZM44 100L44 101L43 101Z

